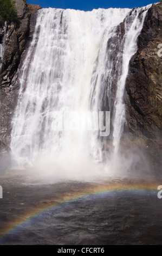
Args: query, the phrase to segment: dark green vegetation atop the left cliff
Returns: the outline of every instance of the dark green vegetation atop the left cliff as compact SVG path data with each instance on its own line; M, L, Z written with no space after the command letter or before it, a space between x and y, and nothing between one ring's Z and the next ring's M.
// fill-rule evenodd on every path
M0 0L0 26L3 26L5 21L20 23L15 3L11 0Z

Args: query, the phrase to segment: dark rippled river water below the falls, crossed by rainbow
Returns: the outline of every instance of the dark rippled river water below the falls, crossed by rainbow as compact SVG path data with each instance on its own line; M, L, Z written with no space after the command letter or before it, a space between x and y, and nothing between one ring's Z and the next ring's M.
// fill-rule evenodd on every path
M0 245L162 244L160 181L43 184L20 172L0 176Z

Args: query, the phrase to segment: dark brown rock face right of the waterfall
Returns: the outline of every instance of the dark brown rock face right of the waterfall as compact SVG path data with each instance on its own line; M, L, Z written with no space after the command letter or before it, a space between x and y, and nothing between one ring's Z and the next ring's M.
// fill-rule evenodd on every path
M146 142L153 165L162 164L162 3L146 15L138 38L138 51L131 58L126 82L126 120L129 135ZM162 55L162 54L161 54Z

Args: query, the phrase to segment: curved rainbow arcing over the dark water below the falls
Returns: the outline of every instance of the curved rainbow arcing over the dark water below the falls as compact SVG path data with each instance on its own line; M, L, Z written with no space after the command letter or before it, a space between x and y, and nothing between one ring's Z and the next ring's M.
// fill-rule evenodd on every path
M51 198L50 202L46 204L46 206L41 205L38 208L31 209L27 214L17 218L7 225L7 227L0 230L0 241L3 239L5 235L10 234L12 231L20 228L22 224L28 223L34 217L40 216L44 212L49 210L54 210L58 206L62 206L66 203L73 202L74 200L85 198L88 196L95 196L100 194L109 194L111 192L153 192L158 193L157 187L160 184L157 182L151 181L129 181L126 184L124 182L111 182L111 184L90 184L85 191L76 192L74 191L69 194L63 194L56 198Z

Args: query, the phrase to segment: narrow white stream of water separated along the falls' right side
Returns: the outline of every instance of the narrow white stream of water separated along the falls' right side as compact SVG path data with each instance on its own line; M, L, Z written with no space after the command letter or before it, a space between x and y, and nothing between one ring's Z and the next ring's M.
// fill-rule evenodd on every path
M132 11L130 17L126 17L125 20L125 38L124 44L122 44L122 62L119 67L119 76L117 82L117 92L115 100L115 114L114 114L114 131L113 131L113 145L115 154L118 153L120 137L122 133L123 124L125 121L125 105L123 102L124 89L126 77L128 74L129 60L133 54L137 51L137 38L141 32L144 24L147 8L142 8L144 13L139 17L141 8Z

